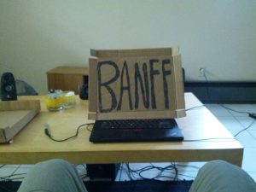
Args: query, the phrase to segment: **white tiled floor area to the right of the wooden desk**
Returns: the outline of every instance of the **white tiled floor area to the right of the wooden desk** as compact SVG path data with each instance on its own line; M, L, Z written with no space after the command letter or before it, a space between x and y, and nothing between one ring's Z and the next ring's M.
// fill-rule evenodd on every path
M224 107L239 112L256 113L255 104L226 104ZM210 109L233 136L236 136L241 131L236 136L236 139L244 147L242 169L256 181L256 119L249 117L247 113L236 113L217 104L207 104L207 108Z

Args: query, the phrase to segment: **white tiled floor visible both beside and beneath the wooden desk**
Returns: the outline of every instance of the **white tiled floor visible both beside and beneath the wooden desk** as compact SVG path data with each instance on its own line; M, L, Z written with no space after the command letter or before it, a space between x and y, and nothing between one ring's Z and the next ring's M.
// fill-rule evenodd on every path
M218 104L206 104L206 107L219 119L220 122L235 136L236 139L241 143L245 148L244 157L242 162L242 168L248 172L251 177L256 181L256 119L253 119L248 116L247 113L237 113L227 108L237 110L239 112L248 112L256 113L255 104L225 104L224 106ZM225 108L224 108L225 107ZM246 129L246 130L245 130ZM242 131L244 130L244 131ZM188 162L188 163L175 163L177 168L177 178L178 179L194 179L199 168L203 166L204 162ZM23 177L26 177L26 172L33 165L0 165L0 180L3 179L16 179L22 180ZM150 166L150 167L149 167ZM149 169L154 166L154 169ZM141 172L143 177L156 177L159 176L160 179L173 179L175 177L174 165L171 163L137 163L130 164L132 170L138 170L145 167L148 167L148 171ZM129 180L131 174L127 174L128 169L125 164L123 164L122 169L120 169L116 180ZM156 169L155 167L167 167L164 172L160 175L160 168ZM84 165L77 166L81 176L85 176L86 172ZM13 175L9 177L9 175ZM160 177L161 176L161 177ZM134 173L131 176L133 179L138 178L139 176Z

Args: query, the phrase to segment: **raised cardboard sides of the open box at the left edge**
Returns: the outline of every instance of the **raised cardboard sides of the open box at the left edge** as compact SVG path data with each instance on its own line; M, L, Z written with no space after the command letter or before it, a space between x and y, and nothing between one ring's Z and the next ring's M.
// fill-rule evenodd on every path
M15 137L40 112L40 109L39 100L0 102L0 111L29 110L29 113L26 113L22 119L15 122L15 125L0 129L0 138L4 138L0 140L0 143L8 143L12 137Z

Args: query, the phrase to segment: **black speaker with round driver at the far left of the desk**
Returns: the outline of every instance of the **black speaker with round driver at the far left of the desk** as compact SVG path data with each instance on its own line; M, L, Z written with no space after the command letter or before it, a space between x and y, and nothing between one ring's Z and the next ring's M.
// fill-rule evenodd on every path
M3 101L17 100L15 77L12 73L3 73L1 78L1 98Z

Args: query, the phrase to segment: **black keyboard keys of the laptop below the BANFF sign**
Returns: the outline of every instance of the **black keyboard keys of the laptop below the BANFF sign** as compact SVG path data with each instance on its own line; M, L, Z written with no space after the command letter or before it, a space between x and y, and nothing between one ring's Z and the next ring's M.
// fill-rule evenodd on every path
M174 119L122 119L96 121L102 129L152 129L172 128Z

